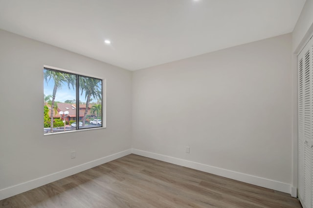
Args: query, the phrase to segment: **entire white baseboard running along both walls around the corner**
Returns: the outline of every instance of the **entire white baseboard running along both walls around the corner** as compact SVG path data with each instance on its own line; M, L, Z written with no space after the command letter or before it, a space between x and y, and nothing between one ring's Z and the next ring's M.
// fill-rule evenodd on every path
M242 182L253 184L256 186L266 187L266 188L270 188L273 190L290 193L292 197L297 197L297 188L291 187L290 184L285 184L282 182L273 181L273 180L269 180L266 178L253 176L253 175L248 175L245 173L235 172L235 171L231 171L231 170L227 170L227 169L223 169L219 167L214 167L214 166L208 166L208 165L204 165L201 163L196 163L196 162L192 162L188 160L183 160L183 159L179 159L175 157L170 157L166 155L156 154L153 152L147 152L147 151L133 148L133 149L127 149L125 151L121 151L121 152L118 152L118 153L115 153L115 154L112 154L112 155L109 155L109 156L106 156L97 160L93 160L93 161L84 163L79 166L70 167L68 169L65 169L56 173L52 173L52 174L49 174L40 178L36 178L34 180L30 180L22 184L0 189L0 200L17 195L27 190L31 190L36 187L41 187L45 184L60 180L62 178L79 173L89 168L99 166L104 163L108 163L112 160L124 157L131 153L141 155L144 157L153 158L153 159L164 161L164 162L168 162L168 163L172 163L172 164L176 164L179 166L190 167L196 170L201 170L204 172L212 173L212 174L223 176L226 178L231 178L237 181L242 181Z

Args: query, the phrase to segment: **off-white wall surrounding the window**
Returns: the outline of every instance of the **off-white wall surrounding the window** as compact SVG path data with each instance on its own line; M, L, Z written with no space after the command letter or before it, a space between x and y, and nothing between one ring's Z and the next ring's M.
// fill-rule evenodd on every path
M44 136L44 64L107 79L106 129ZM11 186L130 149L130 71L3 30L0 70L0 199Z

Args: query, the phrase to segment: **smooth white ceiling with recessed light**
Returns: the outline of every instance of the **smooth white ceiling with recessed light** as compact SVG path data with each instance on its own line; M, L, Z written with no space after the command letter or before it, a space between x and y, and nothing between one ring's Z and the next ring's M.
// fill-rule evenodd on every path
M0 0L0 28L136 70L290 33L304 3Z

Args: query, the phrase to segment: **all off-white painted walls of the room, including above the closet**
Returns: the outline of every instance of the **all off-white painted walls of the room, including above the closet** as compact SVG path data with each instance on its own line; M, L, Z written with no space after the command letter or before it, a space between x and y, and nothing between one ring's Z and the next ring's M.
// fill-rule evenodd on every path
M130 71L0 30L0 192L127 150L131 142L138 150L296 187L291 51L312 30L312 2L292 45L290 34L252 42L135 71L133 82ZM43 136L44 64L107 79L106 129Z

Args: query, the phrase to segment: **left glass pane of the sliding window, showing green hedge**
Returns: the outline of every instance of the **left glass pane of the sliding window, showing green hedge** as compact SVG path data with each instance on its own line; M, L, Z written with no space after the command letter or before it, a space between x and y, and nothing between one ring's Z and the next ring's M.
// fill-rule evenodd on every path
M76 75L44 69L44 133L76 129Z

